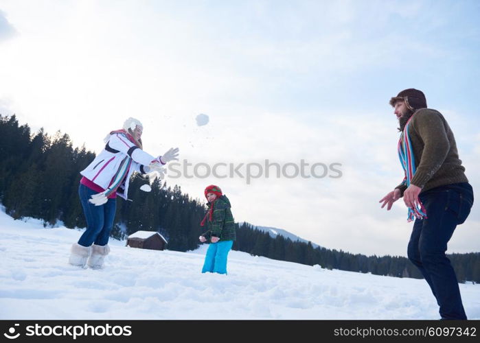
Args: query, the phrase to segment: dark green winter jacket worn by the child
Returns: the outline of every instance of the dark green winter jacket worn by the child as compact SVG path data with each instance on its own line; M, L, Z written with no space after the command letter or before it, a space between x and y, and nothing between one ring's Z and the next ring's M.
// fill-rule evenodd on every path
M207 206L210 208L212 204L208 203ZM220 196L214 201L212 221L210 216L207 216L208 231L203 235L205 238L220 237L220 241L234 241L237 238L230 209L230 200L226 196Z

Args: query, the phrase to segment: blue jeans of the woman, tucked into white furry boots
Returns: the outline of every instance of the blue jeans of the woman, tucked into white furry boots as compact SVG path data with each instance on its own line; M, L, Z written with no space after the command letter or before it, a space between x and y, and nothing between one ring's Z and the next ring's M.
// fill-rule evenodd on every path
M78 187L78 195L82 203L85 220L87 220L87 230L78 240L80 246L91 246L93 243L98 246L105 246L110 237L115 210L117 209L117 199L108 199L105 204L95 206L89 202L89 199L97 193L82 184Z

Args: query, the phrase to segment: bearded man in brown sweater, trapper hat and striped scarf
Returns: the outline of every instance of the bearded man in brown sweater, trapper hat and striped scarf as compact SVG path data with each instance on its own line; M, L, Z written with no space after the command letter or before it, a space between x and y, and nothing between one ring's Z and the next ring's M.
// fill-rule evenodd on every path
M391 209L403 196L409 221L415 220L408 257L422 272L442 319L466 319L457 276L446 257L447 243L473 204L457 144L437 110L426 108L422 91L409 88L390 99L402 132L398 143L403 182L380 202Z

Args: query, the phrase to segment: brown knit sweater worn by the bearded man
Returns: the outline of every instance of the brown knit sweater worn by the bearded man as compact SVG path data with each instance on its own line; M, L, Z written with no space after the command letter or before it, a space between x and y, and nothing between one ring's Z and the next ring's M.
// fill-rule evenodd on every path
M411 184L422 191L468 182L465 167L458 156L457 143L442 113L430 108L421 108L413 115L409 136L415 156L415 175ZM407 186L398 185L402 196Z

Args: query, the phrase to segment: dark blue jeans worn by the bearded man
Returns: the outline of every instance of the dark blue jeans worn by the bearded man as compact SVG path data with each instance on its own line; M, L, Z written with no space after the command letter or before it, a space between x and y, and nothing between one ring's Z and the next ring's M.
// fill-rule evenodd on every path
M442 319L467 319L447 243L458 224L465 222L473 204L468 182L435 187L420 193L427 219L415 220L408 256L422 272L439 305Z

